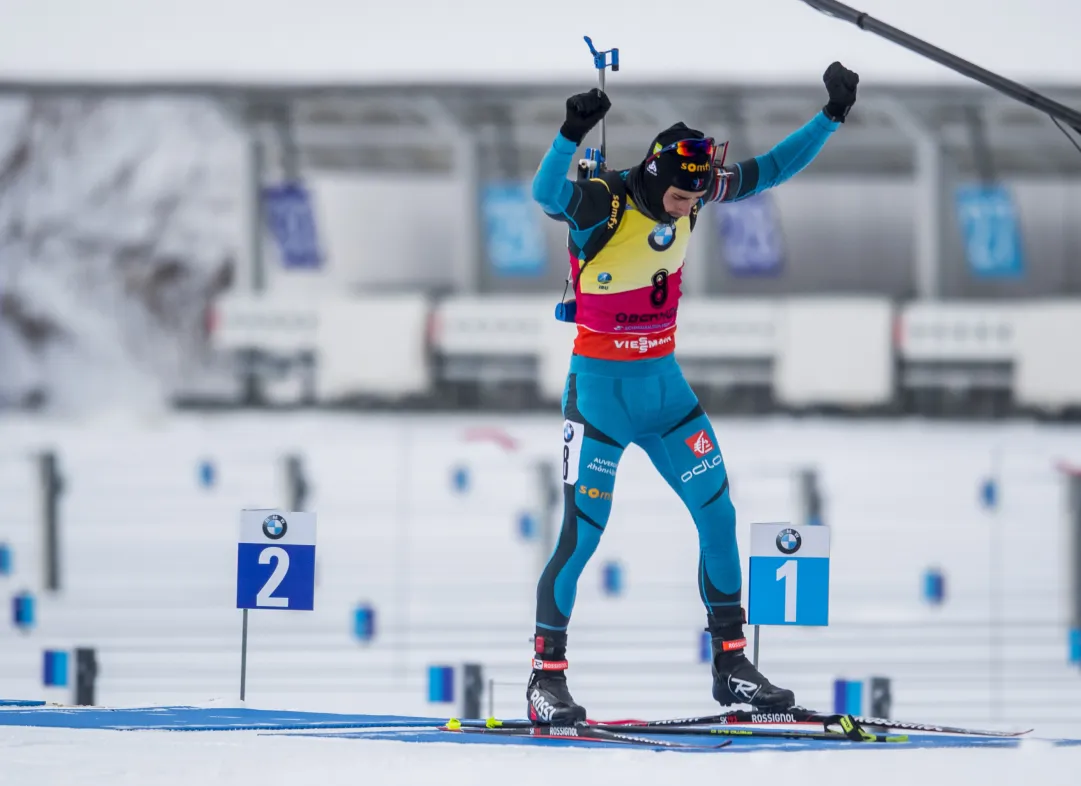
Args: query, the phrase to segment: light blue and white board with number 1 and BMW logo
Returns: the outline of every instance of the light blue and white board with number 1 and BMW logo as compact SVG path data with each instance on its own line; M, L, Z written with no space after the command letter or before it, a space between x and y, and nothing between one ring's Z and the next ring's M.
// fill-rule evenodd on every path
M829 625L829 527L755 523L750 625Z

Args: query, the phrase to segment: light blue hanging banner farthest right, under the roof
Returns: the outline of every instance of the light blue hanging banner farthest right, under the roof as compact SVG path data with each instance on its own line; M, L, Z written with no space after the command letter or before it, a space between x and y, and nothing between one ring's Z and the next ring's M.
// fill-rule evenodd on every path
M969 269L978 278L1025 274L1020 222L1004 186L960 186L957 214Z

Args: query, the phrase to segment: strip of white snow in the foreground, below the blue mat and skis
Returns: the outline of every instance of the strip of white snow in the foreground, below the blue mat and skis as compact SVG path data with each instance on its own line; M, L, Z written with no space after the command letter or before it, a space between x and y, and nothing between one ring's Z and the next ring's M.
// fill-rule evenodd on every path
M256 732L0 728L4 786L838 783L1076 786L1081 747L685 754L399 743Z

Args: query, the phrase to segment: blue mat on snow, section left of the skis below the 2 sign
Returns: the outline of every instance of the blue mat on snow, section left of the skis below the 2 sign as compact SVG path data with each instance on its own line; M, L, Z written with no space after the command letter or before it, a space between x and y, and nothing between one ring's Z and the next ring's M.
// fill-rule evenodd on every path
M446 717L421 718L402 715L342 715L338 712L291 712L245 707L41 707L0 710L0 727L30 725L58 729L117 729L170 731L239 731L263 729L363 729L417 722L445 723Z

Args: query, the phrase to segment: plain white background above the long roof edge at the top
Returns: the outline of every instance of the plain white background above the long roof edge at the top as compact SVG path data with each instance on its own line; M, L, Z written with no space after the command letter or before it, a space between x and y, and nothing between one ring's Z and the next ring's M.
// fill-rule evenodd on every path
M1081 84L1081 0L852 0L1025 83ZM801 0L0 0L0 78L802 81L841 59L878 81L960 77Z

